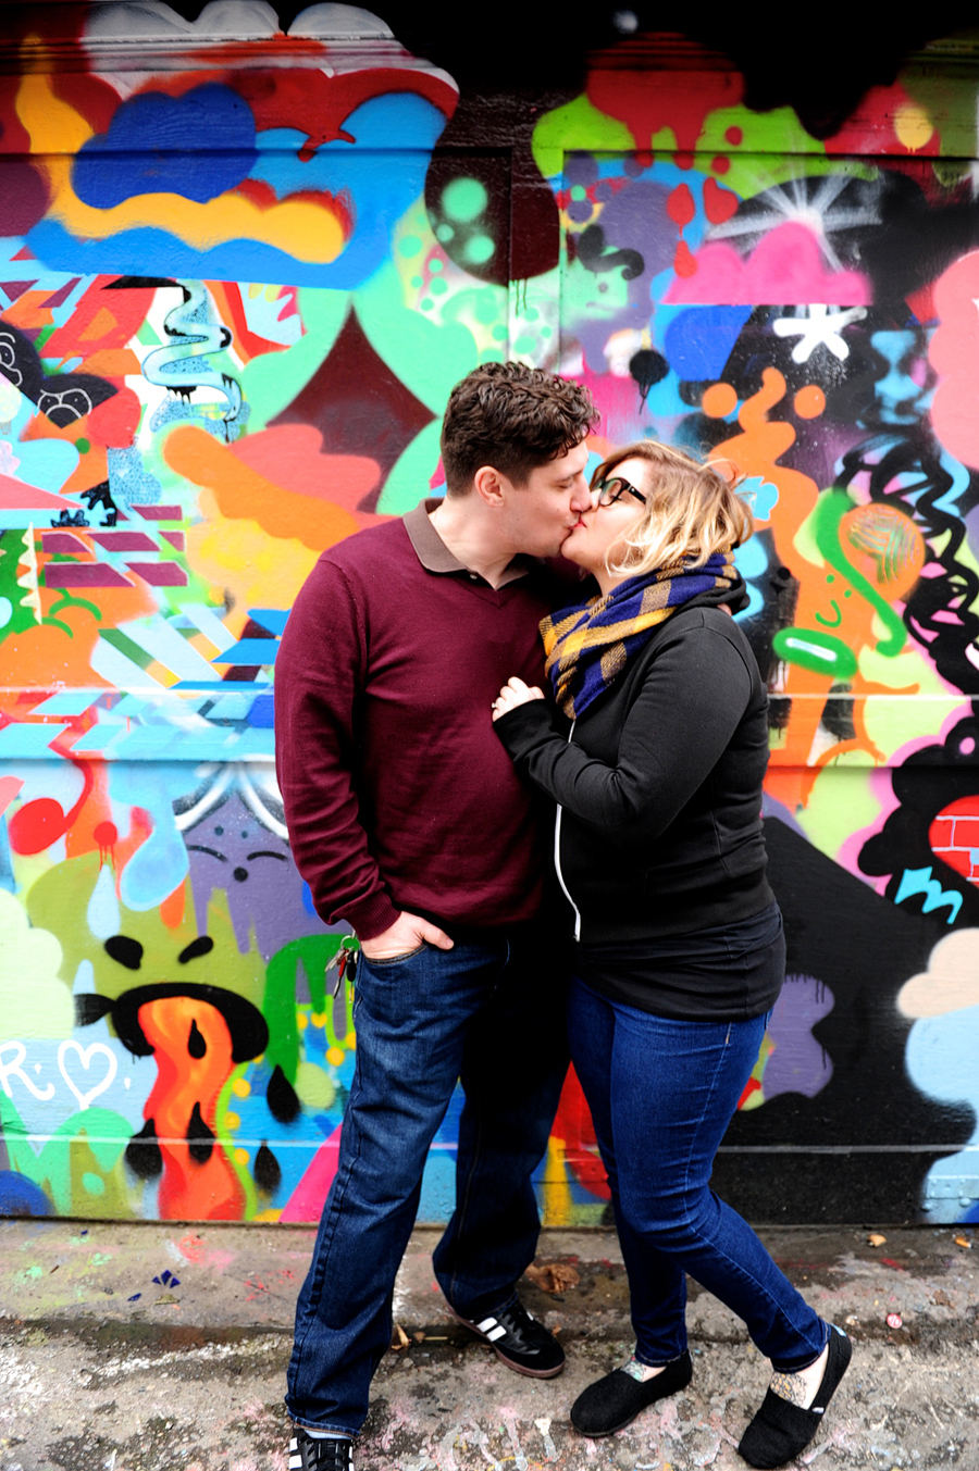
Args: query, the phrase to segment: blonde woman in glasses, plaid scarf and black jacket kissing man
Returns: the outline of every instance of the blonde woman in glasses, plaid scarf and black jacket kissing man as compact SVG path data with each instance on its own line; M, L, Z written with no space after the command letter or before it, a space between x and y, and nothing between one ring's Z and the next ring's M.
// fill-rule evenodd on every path
M689 1383L689 1272L771 1359L739 1450L779 1467L816 1434L851 1344L708 1184L785 974L761 836L767 697L726 606L752 519L733 481L649 440L611 455L562 553L601 596L542 624L571 731L520 680L493 705L518 769L558 803L571 1055L636 1330L629 1364L589 1386L571 1420L611 1434Z

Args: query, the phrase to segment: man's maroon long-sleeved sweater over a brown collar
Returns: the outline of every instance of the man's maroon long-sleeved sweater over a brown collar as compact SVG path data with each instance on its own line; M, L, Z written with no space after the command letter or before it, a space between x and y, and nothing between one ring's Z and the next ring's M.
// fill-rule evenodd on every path
M275 660L278 783L322 919L370 940L402 909L465 925L536 913L540 799L490 702L512 674L543 683L537 624L556 588L534 562L492 588L424 505L322 553Z

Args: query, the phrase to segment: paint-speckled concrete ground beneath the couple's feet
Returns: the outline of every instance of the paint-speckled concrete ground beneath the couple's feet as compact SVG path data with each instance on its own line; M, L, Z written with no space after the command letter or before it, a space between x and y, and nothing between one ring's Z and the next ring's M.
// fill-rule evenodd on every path
M979 1233L771 1230L768 1249L845 1325L852 1367L799 1465L979 1471ZM632 1347L614 1236L551 1231L531 1311L568 1352L549 1381L512 1374L449 1321L436 1233L418 1230L374 1381L361 1471L713 1471L761 1400L766 1362L692 1289L690 1387L589 1442L568 1406ZM312 1231L0 1222L0 1471L286 1471L281 1395ZM549 1290L546 1290L549 1289Z

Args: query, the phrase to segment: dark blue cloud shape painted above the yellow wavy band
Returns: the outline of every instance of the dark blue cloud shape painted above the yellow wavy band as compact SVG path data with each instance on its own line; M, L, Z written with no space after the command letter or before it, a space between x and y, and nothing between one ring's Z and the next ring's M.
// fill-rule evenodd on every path
M94 209L135 194L205 204L247 178L255 159L252 109L230 87L205 82L183 97L140 93L124 101L109 131L78 150L72 184Z

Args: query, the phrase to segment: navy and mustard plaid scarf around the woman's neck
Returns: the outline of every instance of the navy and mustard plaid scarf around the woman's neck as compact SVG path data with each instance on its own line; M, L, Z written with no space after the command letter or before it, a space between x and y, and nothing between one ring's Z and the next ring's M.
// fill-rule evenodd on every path
M605 597L545 618L545 668L564 713L577 719L642 649L651 630L677 608L704 593L727 593L738 583L730 555L715 552L704 566L677 563L630 577Z

